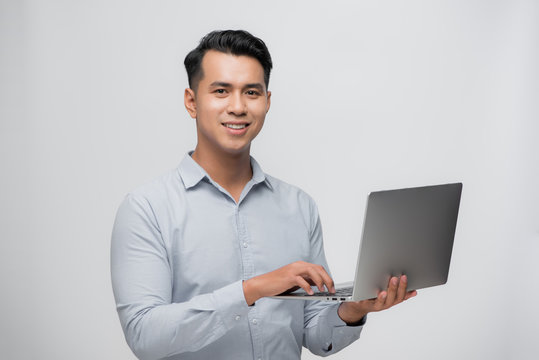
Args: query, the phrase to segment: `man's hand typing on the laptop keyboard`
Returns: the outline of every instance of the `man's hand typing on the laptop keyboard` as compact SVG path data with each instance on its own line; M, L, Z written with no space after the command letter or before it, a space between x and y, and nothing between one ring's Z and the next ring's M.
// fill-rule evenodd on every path
M320 291L335 292L333 280L323 266L296 261L272 272L255 276L243 282L243 294L248 305L265 296L282 294L294 288L302 288L313 294L311 285ZM325 288L324 288L325 287Z

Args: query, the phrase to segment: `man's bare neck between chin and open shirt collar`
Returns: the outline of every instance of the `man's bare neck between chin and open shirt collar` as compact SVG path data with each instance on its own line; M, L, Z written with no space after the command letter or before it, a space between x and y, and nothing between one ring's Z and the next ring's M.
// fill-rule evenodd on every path
M203 149L197 145L191 157L238 202L243 188L253 177L249 151L227 154Z

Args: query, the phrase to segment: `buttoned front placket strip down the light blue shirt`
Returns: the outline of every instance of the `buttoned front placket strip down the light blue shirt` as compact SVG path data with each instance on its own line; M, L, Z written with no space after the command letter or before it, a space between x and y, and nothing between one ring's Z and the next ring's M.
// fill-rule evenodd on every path
M241 261L243 270L243 280L252 278L255 275L252 242L249 238L244 218L241 214L240 206L236 206L236 226L238 229L238 241L241 249ZM253 343L253 358L263 360L262 358L262 336L261 321L256 307L249 311L248 315L251 341Z

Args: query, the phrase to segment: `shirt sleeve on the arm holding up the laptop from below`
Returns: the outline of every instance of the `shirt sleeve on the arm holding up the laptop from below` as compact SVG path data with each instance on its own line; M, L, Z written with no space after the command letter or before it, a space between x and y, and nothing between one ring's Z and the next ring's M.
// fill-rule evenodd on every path
M315 264L324 266L329 272L322 241L322 226L316 205L311 205L311 259ZM340 303L305 301L305 331L303 345L313 354L327 356L334 354L356 341L363 329L347 326L337 314Z

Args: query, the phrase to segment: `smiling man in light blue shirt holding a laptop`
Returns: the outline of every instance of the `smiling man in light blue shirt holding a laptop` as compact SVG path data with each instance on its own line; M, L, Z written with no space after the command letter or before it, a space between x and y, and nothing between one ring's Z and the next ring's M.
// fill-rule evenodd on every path
M270 108L271 57L245 31L206 35L185 66L197 145L179 167L130 193L111 269L127 342L140 359L299 359L359 338L365 316L415 295L392 278L378 298L267 298L334 291L314 201L264 174L250 145Z

